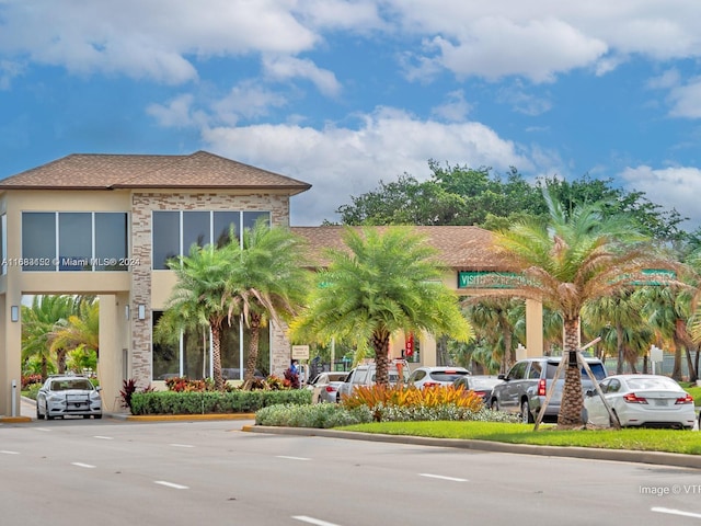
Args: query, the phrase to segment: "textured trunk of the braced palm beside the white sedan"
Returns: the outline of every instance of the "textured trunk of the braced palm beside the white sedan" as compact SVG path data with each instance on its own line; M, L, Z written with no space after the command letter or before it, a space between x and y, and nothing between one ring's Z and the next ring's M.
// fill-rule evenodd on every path
M558 414L558 425L572 427L582 425L582 410L584 409L582 373L579 373L579 364L577 362L578 318L565 318L564 329L565 353L562 359L566 359L567 365L565 367L565 382L562 391L560 414Z

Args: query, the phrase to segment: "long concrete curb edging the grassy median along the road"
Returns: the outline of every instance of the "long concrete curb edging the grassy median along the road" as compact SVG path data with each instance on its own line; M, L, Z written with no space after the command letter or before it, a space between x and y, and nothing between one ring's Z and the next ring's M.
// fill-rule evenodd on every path
M652 464L680 468L701 469L701 455L681 455L659 451L633 451L621 449L597 449L591 447L533 446L528 444L507 444L491 441L469 441L460 438L430 438L423 436L381 435L354 431L317 430L306 427L273 427L244 425L242 431L250 433L272 433L278 435L321 436L347 441L387 442L418 446L457 447L492 453L513 453L519 455L541 455L545 457L572 457L591 460L613 460L618 462Z

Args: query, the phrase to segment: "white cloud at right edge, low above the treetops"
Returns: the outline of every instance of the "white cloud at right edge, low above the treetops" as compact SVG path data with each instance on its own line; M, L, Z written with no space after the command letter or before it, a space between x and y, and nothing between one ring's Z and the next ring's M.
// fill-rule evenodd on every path
M628 190L644 192L647 198L666 209L676 208L681 216L690 219L694 228L701 226L701 169L679 167L655 170L639 165L625 169L620 176Z

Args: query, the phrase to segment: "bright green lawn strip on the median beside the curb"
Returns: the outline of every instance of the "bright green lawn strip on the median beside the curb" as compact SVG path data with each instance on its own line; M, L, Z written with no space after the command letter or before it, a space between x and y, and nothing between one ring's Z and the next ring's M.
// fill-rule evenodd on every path
M533 425L497 422L381 422L340 428L388 435L701 455L701 434L693 431L636 428L556 431L552 425L541 425L539 431L533 431Z

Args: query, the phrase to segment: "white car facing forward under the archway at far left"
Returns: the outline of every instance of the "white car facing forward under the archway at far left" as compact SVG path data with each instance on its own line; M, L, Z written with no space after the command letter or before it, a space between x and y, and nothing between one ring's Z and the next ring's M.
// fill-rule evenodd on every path
M102 419L100 387L84 376L49 376L36 393L36 418L79 415Z

